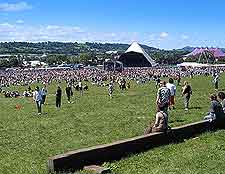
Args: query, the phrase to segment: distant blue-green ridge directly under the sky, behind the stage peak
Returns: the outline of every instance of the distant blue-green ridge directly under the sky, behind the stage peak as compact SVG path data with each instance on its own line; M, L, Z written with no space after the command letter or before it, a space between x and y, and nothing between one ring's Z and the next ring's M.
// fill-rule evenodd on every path
M120 43L63 43L63 42L2 42L0 54L66 54L78 55L80 53L107 51L125 52L130 45ZM159 51L157 48L141 45L146 52Z

